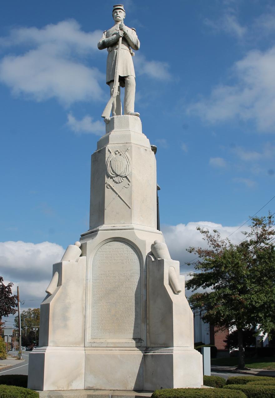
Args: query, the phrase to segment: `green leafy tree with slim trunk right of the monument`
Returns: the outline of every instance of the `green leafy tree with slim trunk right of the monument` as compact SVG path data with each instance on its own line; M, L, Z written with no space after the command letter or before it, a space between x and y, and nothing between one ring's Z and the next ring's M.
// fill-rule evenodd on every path
M205 322L220 328L236 327L239 365L244 369L244 330L258 325L259 331L270 333L275 328L275 247L273 217L252 217L244 240L232 244L222 239L217 230L210 233L198 227L207 248L190 247L198 256L196 271L186 282L187 289L207 289L190 298L193 308L206 310ZM190 263L187 263L191 265Z

